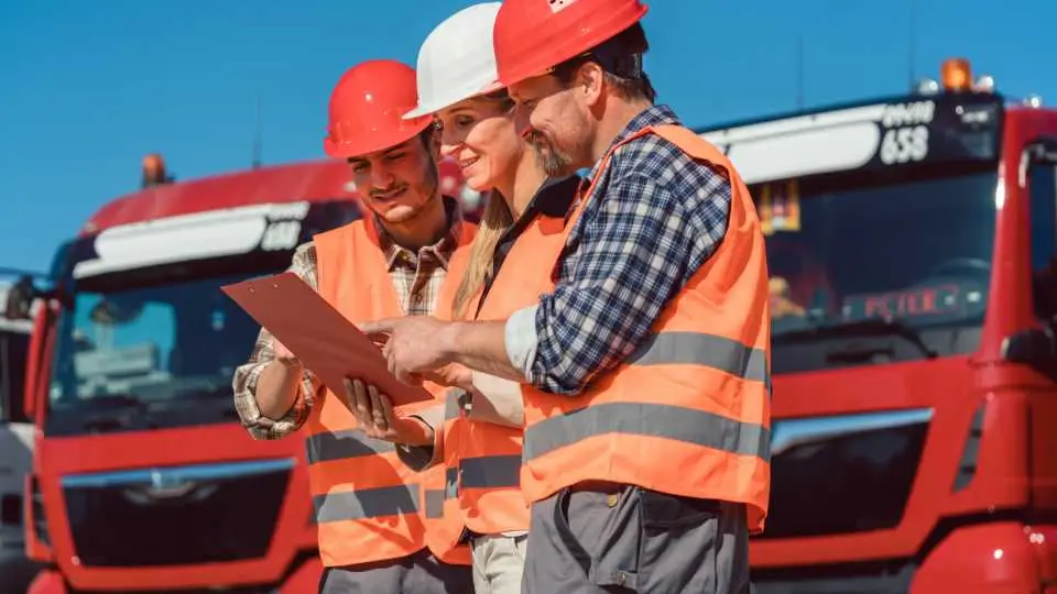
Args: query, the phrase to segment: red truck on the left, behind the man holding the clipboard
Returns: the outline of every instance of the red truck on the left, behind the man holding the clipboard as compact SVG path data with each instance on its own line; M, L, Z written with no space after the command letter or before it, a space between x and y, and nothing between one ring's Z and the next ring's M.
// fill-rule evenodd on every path
M359 218L348 178L324 161L173 183L152 155L144 188L100 208L47 285L9 295L48 305L26 365L25 540L44 564L30 592L316 590L304 443L240 426L231 377L258 327L219 287ZM473 198L454 164L442 187Z

